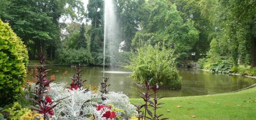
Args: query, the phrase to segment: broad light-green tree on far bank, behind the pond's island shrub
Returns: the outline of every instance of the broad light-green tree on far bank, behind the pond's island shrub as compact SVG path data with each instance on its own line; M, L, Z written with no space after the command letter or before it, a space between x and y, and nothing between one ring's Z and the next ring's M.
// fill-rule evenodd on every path
M138 47L150 40L151 45L162 44L166 48L175 49L180 59L188 57L190 50L199 39L199 31L194 22L183 22L175 4L163 0L151 3L152 11L149 15L149 24L141 32L137 32L133 39L133 47ZM134 48L136 49L136 48Z

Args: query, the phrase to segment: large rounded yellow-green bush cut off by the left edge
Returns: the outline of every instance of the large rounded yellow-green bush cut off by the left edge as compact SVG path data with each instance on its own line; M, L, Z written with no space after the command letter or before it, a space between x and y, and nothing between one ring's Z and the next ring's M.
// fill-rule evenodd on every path
M0 20L0 106L22 94L28 51L8 24Z

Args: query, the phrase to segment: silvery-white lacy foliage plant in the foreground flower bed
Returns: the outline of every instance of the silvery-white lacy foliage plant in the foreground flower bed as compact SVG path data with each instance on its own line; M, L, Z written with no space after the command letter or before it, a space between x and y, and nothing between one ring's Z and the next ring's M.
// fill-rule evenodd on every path
M128 96L123 93L109 92L109 94L104 95L107 99L102 101L98 92L84 92L84 89L70 91L64 88L65 85L64 83L50 84L49 95L53 101L68 96L54 108L55 115L52 117L53 120L93 120L93 118L95 120L111 120L102 117L109 109L96 110L96 106L99 104L113 104L116 108L124 110L125 115L121 116L127 120L135 113L135 107L130 104Z

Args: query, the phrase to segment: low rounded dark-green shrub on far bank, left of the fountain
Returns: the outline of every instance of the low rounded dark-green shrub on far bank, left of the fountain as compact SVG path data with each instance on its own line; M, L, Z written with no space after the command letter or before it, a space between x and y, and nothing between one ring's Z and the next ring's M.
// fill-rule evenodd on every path
M58 49L57 62L61 65L88 65L93 62L93 57L88 49Z

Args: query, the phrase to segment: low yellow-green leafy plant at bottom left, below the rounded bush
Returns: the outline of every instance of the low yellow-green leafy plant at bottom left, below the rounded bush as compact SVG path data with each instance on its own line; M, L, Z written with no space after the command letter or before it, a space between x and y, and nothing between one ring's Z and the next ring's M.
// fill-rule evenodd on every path
M20 120L21 116L26 113L31 113L32 111L29 108L22 108L19 102L14 102L13 106L9 108L10 120Z

